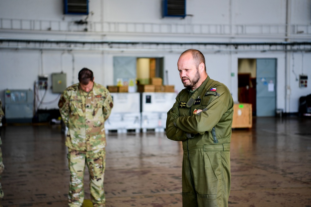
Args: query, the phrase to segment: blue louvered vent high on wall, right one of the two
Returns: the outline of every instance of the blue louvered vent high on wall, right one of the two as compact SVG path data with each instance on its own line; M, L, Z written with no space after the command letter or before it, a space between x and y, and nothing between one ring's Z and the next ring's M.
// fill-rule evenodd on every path
M186 0L163 0L163 16L186 16Z

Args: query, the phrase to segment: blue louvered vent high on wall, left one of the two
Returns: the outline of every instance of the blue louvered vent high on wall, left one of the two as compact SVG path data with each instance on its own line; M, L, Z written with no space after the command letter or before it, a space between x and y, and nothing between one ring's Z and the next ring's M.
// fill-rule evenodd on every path
M64 0L64 14L89 14L89 0Z

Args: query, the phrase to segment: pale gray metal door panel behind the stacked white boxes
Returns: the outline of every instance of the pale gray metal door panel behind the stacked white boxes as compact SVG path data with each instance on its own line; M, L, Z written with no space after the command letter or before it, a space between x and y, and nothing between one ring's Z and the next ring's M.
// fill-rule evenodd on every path
M117 85L117 79L136 79L136 60L136 57L114 57L114 85Z

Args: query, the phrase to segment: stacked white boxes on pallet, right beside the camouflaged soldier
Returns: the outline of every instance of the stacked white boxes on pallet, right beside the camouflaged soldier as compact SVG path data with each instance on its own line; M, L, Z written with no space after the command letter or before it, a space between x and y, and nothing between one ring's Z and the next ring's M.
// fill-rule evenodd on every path
M140 131L141 115L139 93L110 93L114 107L105 122L106 133Z

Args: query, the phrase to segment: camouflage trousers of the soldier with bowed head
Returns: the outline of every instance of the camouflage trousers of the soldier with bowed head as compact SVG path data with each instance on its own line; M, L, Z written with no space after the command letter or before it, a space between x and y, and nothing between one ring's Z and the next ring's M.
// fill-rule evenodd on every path
M76 151L68 148L67 157L70 170L69 206L82 206L84 200L84 169L87 165L90 174L90 192L93 206L104 207L105 149L103 148L96 151Z

